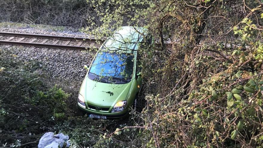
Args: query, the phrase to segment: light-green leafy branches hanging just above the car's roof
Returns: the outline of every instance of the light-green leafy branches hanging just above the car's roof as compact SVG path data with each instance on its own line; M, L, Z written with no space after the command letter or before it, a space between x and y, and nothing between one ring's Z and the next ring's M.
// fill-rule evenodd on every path
M88 19L88 22L92 23L87 28L83 28L83 31L94 34L97 39L104 39L120 26L140 27L141 22L147 19L145 16L148 15L147 9L151 7L151 4L149 0L92 0L91 5L94 7L96 16ZM99 18L101 23L95 22L96 18Z

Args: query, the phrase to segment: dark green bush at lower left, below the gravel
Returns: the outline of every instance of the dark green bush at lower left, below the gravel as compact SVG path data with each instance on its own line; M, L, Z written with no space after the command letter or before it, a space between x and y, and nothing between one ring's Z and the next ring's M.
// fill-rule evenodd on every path
M69 94L45 86L39 63L21 61L10 51L0 52L1 143L31 141L54 125L53 118L65 118ZM19 138L25 134L29 136Z

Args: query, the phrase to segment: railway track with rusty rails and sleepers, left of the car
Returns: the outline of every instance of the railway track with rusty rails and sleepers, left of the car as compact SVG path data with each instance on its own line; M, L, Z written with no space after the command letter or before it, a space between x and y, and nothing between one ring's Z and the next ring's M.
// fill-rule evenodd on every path
M38 42L38 40L40 40L40 42ZM87 50L91 48L98 48L95 45L95 41L96 41L95 39L81 38L81 37L0 32L0 44L9 45L9 46L18 45L18 46L33 46L35 48L41 47L41 48L57 48L57 49L68 49L68 50ZM48 42L52 42L52 44Z

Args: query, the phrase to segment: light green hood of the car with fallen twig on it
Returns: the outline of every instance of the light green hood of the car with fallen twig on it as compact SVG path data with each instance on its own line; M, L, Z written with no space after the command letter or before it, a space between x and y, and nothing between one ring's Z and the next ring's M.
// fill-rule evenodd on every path
M126 100L130 86L131 82L126 84L96 82L86 75L79 93L88 104L110 107L118 101Z

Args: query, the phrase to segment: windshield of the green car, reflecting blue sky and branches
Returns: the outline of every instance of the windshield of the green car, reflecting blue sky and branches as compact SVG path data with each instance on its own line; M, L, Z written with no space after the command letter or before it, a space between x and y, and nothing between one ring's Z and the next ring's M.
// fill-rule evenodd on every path
M130 80L133 71L133 55L117 52L100 52L90 67L89 74L117 80Z

